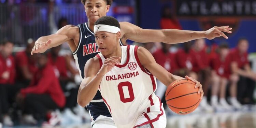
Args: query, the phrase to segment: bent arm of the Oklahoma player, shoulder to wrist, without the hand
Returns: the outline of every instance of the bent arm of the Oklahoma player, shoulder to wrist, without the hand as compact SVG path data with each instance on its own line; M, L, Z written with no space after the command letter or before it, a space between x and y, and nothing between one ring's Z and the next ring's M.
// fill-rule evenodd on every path
M84 68L84 79L79 87L77 103L85 107L95 97L103 76L98 75L100 70L97 57L89 59Z

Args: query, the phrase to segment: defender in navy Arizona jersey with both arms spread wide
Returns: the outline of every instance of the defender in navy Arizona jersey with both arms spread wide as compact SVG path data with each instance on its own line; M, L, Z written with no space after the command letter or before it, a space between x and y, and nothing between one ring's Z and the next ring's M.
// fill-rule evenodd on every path
M57 31L55 34L40 37L31 51L33 53L43 53L51 47L58 46L68 42L74 58L76 59L77 68L80 70L81 79L84 78L84 65L90 58L99 53L99 48L95 43L94 23L102 16L106 16L109 11L112 0L81 0L84 4L88 22L77 26L67 25ZM128 22L121 22L122 35L120 45L124 45L126 40L136 42L164 42L164 43L182 43L200 38L214 39L223 36L228 38L223 32L231 33L232 28L228 26L213 27L207 31L187 31L176 29L149 30L142 29ZM182 37L182 38L177 38ZM100 92L98 91L95 98L87 106L94 128L100 123L106 127L111 124L111 115L104 104ZM101 122L101 120L103 120ZM106 121L107 120L107 121ZM113 121L112 121L113 122ZM98 124L97 124L98 123ZM113 124L113 123L112 123Z

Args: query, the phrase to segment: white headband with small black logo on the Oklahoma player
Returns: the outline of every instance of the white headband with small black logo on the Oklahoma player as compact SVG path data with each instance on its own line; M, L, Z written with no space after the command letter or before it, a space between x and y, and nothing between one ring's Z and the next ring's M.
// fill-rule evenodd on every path
M94 26L94 33L98 31L106 31L111 33L117 33L120 31L120 28L110 25L95 25Z

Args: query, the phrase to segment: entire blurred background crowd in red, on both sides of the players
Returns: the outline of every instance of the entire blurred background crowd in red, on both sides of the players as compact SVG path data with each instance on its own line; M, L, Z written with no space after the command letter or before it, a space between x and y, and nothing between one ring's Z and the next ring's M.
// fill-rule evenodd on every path
M48 22L51 33L68 24L66 18L61 18L55 25L52 13L49 13ZM182 29L169 7L163 8L160 26L161 29ZM24 29L30 31L28 26L24 26ZM23 34L24 38L29 38L26 32ZM27 40L22 52L13 52L14 43L9 40L3 40L0 44L0 124L37 125L41 122L43 126L54 126L63 118L65 123L89 120L88 112L76 102L81 77L68 44L53 47L43 54L30 55L34 42L33 39ZM230 48L227 43L207 46L204 39L181 45L136 45L148 49L156 62L169 72L182 77L188 75L201 82L205 95L199 106L202 111L241 110L244 104L255 104L256 73L251 70L247 53L249 42L245 38L238 40L235 48ZM157 85L156 95L165 103L166 86L159 81Z

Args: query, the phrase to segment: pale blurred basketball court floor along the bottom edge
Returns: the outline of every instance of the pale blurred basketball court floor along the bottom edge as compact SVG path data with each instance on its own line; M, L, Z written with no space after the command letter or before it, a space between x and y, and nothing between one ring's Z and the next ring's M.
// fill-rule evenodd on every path
M202 113L195 111L187 115L177 115L166 111L166 128L256 128L256 106L250 110ZM4 127L7 128L7 127ZM13 128L40 128L15 126ZM90 121L85 124L70 124L56 128L90 128Z

